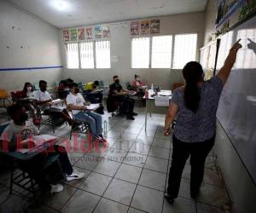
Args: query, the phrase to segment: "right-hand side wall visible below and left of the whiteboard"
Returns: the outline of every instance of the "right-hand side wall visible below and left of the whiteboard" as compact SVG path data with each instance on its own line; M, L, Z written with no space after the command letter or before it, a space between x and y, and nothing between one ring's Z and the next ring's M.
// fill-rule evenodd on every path
M206 10L206 33L205 44L208 37L215 32L215 15L217 13L218 1L209 0ZM256 186L247 173L245 165L236 153L231 141L222 126L217 123L217 135L214 153L218 158L218 165L224 176L224 182L233 202L235 213L256 212Z

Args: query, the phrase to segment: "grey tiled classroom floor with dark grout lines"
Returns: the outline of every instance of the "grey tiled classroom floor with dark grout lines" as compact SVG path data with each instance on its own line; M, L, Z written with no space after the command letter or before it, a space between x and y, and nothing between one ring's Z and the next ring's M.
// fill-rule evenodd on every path
M163 136L164 115L153 114L148 118L144 130L144 109L137 109L135 121L125 118L110 118L105 136L108 147L102 144L84 153L82 150L68 151L75 170L83 171L80 181L65 183L65 190L54 195L44 195L40 204L34 206L31 199L18 193L9 195L9 172L0 174L0 212L229 212L230 199L218 172L212 154L207 158L205 178L198 200L189 197L189 161L183 171L179 197L174 204L164 199L166 178L172 157L171 136ZM1 120L3 122L3 118ZM55 130L61 144L70 128L62 126ZM41 133L51 134L43 127ZM79 140L85 135L79 135Z

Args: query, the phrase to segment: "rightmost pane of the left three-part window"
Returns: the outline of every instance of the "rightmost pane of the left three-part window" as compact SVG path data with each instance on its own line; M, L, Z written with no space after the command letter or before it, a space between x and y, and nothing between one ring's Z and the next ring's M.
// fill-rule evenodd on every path
M96 42L96 68L110 68L110 42Z

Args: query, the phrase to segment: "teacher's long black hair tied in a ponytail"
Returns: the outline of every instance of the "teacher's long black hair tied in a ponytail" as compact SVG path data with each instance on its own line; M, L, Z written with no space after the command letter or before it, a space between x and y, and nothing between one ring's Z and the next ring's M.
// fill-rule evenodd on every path
M196 61L190 61L183 67L183 78L186 81L184 104L192 112L196 112L200 104L201 95L197 83L202 80L202 74L201 64Z

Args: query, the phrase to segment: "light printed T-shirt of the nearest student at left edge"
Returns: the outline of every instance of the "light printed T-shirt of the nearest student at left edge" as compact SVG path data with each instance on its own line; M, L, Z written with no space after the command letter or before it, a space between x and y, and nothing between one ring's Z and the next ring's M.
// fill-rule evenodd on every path
M38 135L38 128L31 121L26 121L25 125L17 125L13 121L3 130L0 137L2 141L16 141L17 138L23 141L34 135Z

